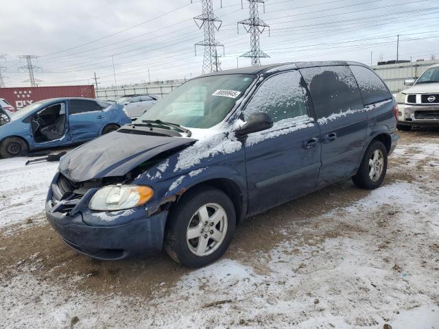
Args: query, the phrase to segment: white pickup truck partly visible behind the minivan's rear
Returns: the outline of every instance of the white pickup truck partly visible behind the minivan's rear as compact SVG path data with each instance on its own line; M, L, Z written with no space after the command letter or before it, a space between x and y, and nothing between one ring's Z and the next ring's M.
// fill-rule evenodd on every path
M413 126L439 125L439 64L430 66L418 80L405 80L412 86L396 95L398 130Z

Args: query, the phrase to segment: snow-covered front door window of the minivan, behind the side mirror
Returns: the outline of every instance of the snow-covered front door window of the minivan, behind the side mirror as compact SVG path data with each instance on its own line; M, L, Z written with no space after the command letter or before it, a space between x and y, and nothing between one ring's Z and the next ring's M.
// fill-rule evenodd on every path
M258 88L244 111L244 119L265 112L273 122L308 115L309 99L305 82L298 71L269 77Z

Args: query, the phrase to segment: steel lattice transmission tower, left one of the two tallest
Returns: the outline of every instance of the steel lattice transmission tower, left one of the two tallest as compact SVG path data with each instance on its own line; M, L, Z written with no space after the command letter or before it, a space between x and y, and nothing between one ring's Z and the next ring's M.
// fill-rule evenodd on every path
M204 40L195 43L195 56L197 56L197 46L204 46L202 73L221 71L217 47L222 47L224 54L224 45L215 40L215 30L219 31L222 21L213 14L213 0L202 0L202 8L203 13L193 18L198 28L204 31Z

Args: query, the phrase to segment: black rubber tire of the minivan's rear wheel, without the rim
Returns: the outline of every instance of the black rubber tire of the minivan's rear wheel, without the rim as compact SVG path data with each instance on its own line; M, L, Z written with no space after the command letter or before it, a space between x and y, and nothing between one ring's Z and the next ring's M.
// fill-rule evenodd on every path
M381 174L375 176L375 178L372 180L372 178L370 178L369 162L370 160L374 161L372 159L372 155L375 158L375 151L381 152L383 161ZM385 149L384 144L380 141L372 141L366 149L363 160L361 160L361 165L357 171L357 174L352 178L354 184L360 188L367 188L369 190L378 188L379 186L381 186L381 184L383 184L385 173L387 172L387 163L387 149Z

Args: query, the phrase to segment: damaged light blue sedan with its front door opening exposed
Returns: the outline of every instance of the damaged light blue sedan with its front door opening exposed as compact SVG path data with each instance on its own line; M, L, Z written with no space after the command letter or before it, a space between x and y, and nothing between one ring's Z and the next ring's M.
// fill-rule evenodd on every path
M0 125L0 156L84 143L131 123L123 106L96 99L56 98L8 114Z

